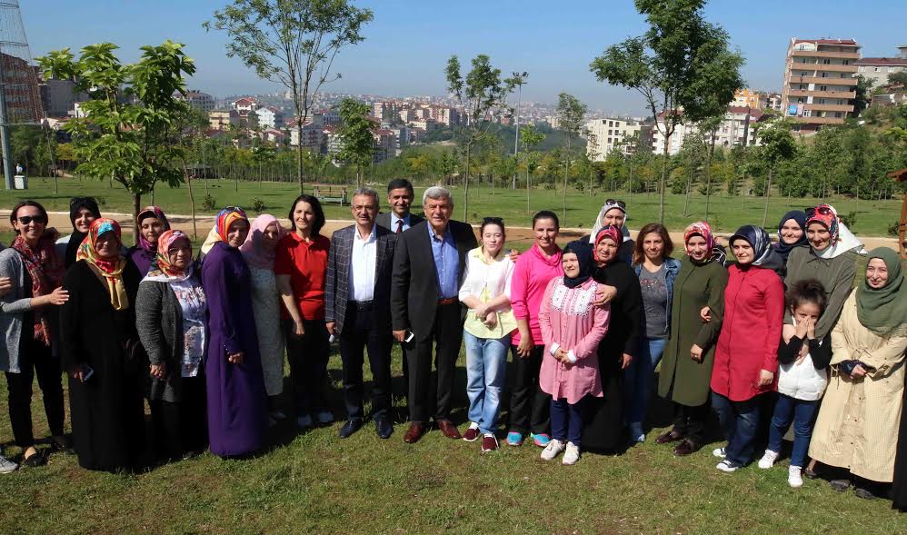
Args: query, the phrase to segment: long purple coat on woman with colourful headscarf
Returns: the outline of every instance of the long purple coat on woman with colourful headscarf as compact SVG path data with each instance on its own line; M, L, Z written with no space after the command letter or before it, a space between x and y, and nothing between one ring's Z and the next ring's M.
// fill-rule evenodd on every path
M221 457L260 450L267 432L267 397L249 278L238 249L215 243L204 257L202 286L211 335L204 362L208 433L211 452ZM237 352L244 352L243 363L227 362L227 355Z

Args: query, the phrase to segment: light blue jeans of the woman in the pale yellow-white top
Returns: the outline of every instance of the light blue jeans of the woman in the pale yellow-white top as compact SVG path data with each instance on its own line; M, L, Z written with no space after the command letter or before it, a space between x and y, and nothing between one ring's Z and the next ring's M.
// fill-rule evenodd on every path
M498 409L507 348L510 334L503 338L479 338L463 332L466 346L466 396L469 397L469 419L479 424L479 431L493 433L497 429Z

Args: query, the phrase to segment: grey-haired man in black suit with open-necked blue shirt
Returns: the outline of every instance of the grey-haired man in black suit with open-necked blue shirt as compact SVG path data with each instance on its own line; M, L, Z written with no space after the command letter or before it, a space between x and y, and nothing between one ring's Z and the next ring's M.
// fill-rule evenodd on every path
M409 429L404 441L422 438L431 400L432 350L437 366L434 421L444 436L460 439L450 421L453 372L463 342L465 309L457 299L466 253L477 246L473 227L451 221L453 197L442 187L425 190L426 221L397 238L391 284L394 338L409 352ZM407 342L408 341L408 342ZM433 346L436 344L436 348Z

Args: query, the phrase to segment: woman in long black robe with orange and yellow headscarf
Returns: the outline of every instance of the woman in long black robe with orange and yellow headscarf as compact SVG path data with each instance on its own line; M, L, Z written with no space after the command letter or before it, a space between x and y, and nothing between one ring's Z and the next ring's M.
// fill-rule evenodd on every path
M63 364L75 452L88 470L134 470L145 451L148 369L135 331L142 277L120 240L119 223L95 219L64 281Z

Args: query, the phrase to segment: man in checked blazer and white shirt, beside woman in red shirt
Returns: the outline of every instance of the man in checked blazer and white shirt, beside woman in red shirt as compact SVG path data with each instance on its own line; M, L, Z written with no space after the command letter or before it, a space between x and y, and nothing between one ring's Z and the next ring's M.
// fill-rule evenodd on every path
M396 234L374 223L378 193L359 188L351 204L355 224L334 232L324 283L324 322L340 337L344 362L345 439L363 426L363 351L372 369L372 417L378 436L391 425L391 270Z

